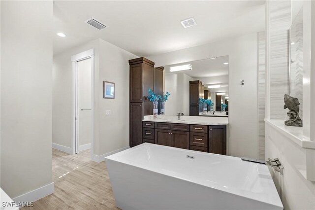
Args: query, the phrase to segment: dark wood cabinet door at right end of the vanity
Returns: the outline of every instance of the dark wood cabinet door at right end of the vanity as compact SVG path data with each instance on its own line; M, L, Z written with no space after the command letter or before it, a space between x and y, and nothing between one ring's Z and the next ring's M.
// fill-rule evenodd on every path
M209 126L209 152L226 155L226 125Z

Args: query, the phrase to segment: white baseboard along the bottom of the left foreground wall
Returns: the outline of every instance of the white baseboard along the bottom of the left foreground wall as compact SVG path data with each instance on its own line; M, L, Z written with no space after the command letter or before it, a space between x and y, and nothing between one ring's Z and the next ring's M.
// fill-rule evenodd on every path
M19 203L19 202L34 202L38 199L41 199L47 195L50 195L55 192L55 184L54 182L47 184L45 186L39 187L31 192L25 193L18 197L13 198L12 200Z

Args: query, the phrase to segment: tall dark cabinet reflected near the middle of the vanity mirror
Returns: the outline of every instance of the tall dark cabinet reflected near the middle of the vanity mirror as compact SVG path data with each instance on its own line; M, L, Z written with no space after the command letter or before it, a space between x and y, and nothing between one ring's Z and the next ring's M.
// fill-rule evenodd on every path
M202 87L202 81L194 80L189 81L189 115L199 115L199 98L203 98L204 89Z

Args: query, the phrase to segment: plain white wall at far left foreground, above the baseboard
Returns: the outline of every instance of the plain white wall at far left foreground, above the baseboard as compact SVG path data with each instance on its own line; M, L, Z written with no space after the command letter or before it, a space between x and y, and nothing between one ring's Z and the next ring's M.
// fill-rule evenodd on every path
M52 184L52 25L52 1L1 1L1 188L11 198Z

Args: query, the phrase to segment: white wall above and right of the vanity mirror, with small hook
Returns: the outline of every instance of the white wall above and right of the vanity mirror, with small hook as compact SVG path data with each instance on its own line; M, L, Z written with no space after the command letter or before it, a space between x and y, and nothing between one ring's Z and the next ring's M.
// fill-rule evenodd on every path
M156 66L229 56L228 154L257 158L257 33L149 56ZM244 80L245 85L241 85Z

